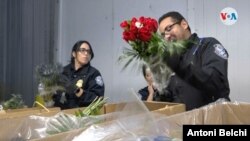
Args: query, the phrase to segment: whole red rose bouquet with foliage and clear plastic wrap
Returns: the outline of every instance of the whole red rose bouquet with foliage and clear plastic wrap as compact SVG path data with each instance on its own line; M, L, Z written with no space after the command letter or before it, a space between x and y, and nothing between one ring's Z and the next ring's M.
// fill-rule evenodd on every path
M120 26L123 29L123 39L132 47L124 48L118 59L120 62L126 60L123 69L133 61L148 64L157 88L162 92L172 73L166 64L166 58L184 52L187 41L165 41L157 32L157 21L150 17L133 17L121 22Z

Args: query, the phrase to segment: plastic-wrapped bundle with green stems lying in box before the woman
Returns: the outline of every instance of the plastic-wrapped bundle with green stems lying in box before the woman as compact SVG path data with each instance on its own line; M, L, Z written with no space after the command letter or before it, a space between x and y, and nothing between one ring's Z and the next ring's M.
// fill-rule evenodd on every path
M104 121L102 117L95 115L101 114L101 108L107 102L108 98L96 97L94 101L83 109L75 111L75 115L59 113L54 118L48 120L46 132L48 134L57 134L73 129L86 128L90 125Z

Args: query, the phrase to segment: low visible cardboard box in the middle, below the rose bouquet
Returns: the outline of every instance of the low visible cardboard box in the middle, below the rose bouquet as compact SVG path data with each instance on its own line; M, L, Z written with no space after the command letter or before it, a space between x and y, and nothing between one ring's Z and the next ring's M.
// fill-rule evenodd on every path
M104 113L111 113L116 111L135 111L145 112L147 110L151 112L156 112L164 115L173 115L185 111L185 105L181 103L171 103L171 102L143 102L144 105L141 105L141 102L122 102L122 103L109 103L104 105ZM146 109L144 109L144 107Z

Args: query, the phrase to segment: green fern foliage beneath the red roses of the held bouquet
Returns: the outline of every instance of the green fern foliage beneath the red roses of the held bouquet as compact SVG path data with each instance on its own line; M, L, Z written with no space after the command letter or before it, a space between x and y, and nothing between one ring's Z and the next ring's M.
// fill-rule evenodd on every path
M152 33L149 42L129 42L131 48L124 48L123 54L118 62L125 62L123 69L127 68L133 61L151 62L156 56L158 58L169 58L172 55L180 55L186 51L189 40L165 41L158 33Z

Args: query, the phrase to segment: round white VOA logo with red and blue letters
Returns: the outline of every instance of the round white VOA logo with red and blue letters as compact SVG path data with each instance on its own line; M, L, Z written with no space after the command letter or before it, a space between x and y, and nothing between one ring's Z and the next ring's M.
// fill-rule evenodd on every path
M231 7L224 8L220 12L220 19L225 25L233 25L238 20L237 11Z

